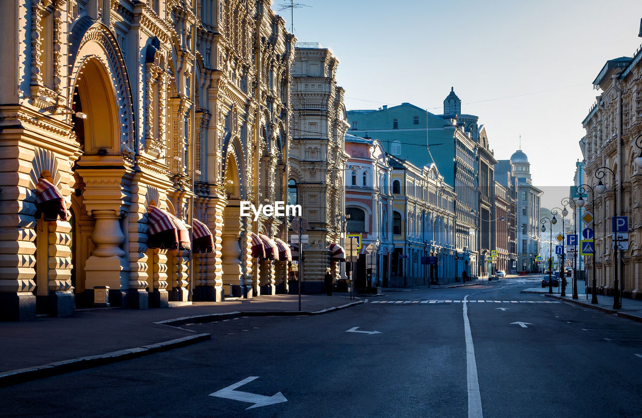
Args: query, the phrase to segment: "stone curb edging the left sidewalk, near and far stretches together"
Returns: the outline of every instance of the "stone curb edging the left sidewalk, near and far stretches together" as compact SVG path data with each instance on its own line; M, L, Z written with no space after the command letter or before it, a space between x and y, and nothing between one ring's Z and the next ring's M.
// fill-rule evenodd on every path
M196 315L194 317L182 317L175 319L168 319L164 321L154 322L154 324L166 326L178 326L184 324L198 324L202 322L210 322L213 319L226 319L234 317L261 317L261 316L295 316L295 315L320 315L322 313L329 313L338 309L349 308L354 305L362 304L364 300L357 300L342 306L333 306L332 308L322 309L320 311L234 311L228 313L212 313L205 315ZM159 342L156 344L143 345L141 347L134 347L119 351L112 351L110 353L98 354L96 356L86 356L72 358L71 360L56 361L55 363L48 363L41 366L27 367L25 369L10 370L8 372L0 372L0 387L15 385L35 379L49 378L58 374L65 374L69 372L76 372L78 370L91 369L92 367L117 363L118 361L130 360L132 358L139 358L148 354L161 353L162 351L169 351L187 345L195 344L197 342L207 341L211 338L210 334L196 334L188 335L182 338L175 338Z

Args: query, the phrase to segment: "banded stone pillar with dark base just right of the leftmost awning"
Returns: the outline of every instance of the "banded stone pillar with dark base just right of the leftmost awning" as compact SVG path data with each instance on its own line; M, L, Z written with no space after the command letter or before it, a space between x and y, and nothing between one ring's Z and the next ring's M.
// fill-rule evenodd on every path
M48 289L49 314L67 317L76 308L71 287L71 225L57 220L49 223Z

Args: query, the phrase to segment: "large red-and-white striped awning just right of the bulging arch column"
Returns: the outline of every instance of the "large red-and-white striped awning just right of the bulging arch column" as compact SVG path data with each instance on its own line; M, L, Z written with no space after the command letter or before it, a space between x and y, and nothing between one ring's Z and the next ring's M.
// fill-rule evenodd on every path
M167 250L189 250L189 232L182 220L155 206L147 212L148 238L150 248Z

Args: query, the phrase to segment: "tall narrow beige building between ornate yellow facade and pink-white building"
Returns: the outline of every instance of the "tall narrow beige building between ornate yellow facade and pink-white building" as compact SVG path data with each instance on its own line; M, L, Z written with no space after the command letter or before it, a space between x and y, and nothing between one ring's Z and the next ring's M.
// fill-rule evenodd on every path
M343 88L336 85L339 60L316 43L297 44L291 76L291 146L288 188L291 203L300 204L308 220L309 243L303 244L304 291L324 290L331 268L339 277L341 264L331 257L331 245L345 239L343 168L348 155L344 135L349 125ZM292 232L291 232L292 233ZM334 248L334 247L333 247Z

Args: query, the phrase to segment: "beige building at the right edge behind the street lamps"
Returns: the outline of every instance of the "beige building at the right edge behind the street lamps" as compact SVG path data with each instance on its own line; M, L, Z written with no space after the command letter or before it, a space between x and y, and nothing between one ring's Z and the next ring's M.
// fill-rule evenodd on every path
M600 95L583 121L586 135L580 147L586 162L586 183L602 183L606 190L593 196L584 194L584 209L593 214L596 243L596 279L598 292L612 294L616 263L618 286L625 297L642 297L642 168L636 164L640 153L636 141L642 135L642 49L634 56L609 60L593 81ZM604 169L602 169L604 168ZM615 182L614 182L615 180ZM614 184L616 187L614 187ZM617 211L615 193L617 191ZM619 251L612 241L612 216L629 217L628 249ZM579 230L579 228L578 228ZM586 257L589 284L593 278L591 257Z

